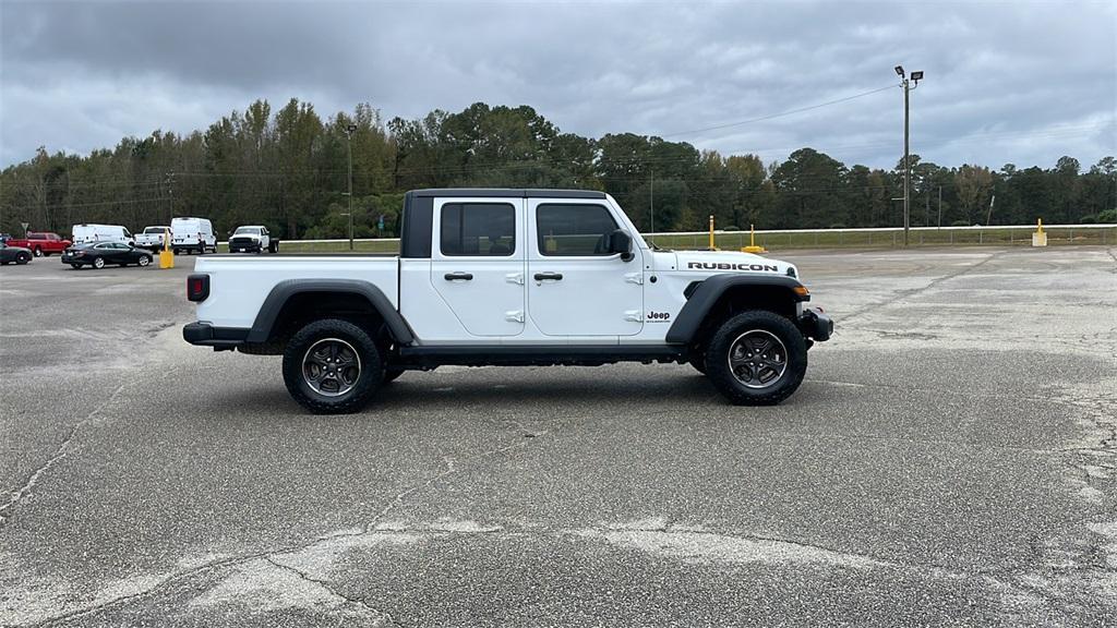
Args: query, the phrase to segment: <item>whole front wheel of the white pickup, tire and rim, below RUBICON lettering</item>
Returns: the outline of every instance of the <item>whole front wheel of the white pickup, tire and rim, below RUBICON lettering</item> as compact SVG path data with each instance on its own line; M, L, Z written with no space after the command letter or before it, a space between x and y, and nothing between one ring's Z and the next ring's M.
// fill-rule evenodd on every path
M706 350L706 374L738 406L772 406L791 397L806 374L806 342L787 318L763 310L733 316Z

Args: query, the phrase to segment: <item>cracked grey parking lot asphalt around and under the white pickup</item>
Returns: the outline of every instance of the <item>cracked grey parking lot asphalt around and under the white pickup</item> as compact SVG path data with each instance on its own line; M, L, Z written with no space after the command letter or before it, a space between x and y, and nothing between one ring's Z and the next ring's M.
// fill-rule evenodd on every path
M773 253L838 325L688 365L405 373L305 413L174 270L0 269L2 626L1117 624L1117 257Z

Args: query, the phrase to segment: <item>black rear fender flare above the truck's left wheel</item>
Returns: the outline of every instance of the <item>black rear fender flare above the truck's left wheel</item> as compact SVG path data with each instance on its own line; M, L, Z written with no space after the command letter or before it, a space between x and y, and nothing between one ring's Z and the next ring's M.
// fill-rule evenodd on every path
M392 340L401 345L414 342L411 327L408 326L407 321L395 310L392 302L384 296L384 293L375 285L359 279L287 279L279 282L264 299L264 305L256 314L256 321L252 322L252 327L245 341L250 343L267 342L271 335L271 327L287 301L297 294L305 293L347 293L363 296L384 320L388 331L392 334Z

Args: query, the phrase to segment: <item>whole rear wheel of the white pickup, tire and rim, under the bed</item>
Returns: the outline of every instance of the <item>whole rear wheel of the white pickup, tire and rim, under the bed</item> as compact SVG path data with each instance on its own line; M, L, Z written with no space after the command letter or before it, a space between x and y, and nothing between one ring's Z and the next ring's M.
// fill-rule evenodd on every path
M347 321L324 318L299 330L283 354L287 391L316 415L355 412L384 379L372 337Z

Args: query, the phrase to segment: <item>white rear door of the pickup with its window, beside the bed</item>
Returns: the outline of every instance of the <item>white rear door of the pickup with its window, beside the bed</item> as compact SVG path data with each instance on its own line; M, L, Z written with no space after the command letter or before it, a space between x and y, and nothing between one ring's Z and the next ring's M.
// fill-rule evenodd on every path
M471 336L524 331L524 199L437 199L430 280Z

